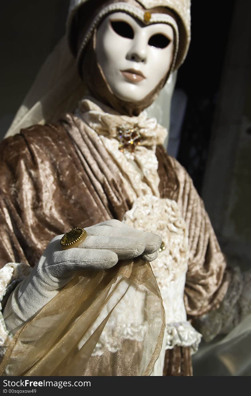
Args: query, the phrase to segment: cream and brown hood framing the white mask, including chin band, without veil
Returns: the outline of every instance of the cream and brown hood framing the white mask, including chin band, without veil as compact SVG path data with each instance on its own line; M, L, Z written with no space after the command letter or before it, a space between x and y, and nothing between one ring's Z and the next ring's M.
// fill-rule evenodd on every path
M67 21L67 35L70 49L77 58L79 75L94 97L110 105L120 114L135 116L149 107L157 99L170 73L177 69L187 52L190 41L190 4L186 7L189 16L187 17L184 14L183 19L173 9L168 9L168 4L170 2L159 0L96 0L92 2L90 0L74 0L71 2ZM185 8L181 8L181 10L185 12ZM145 26L153 23L166 23L174 30L172 65L159 84L141 101L129 103L117 98L96 58L96 29L107 15L116 11L128 13ZM179 45L179 30L182 38L181 45Z

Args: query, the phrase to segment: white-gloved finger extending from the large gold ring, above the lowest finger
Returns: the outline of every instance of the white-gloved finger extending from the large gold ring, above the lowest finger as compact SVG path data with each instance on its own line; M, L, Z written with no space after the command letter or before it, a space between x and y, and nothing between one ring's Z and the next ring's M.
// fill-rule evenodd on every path
M114 251L119 260L132 259L145 251L145 243L139 238L121 238L118 236L87 236L78 246L83 249L108 249Z

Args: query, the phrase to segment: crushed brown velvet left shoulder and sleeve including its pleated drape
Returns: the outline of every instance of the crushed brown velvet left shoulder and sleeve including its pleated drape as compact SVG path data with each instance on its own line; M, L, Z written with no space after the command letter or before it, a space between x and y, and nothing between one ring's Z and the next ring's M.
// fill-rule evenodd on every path
M72 114L0 144L0 268L32 267L49 241L128 209L113 163Z

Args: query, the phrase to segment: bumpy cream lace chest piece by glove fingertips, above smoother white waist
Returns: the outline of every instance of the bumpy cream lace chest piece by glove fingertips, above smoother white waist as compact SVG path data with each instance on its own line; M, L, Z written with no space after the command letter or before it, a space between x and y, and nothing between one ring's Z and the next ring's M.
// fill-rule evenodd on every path
M164 270L165 276L159 280L160 287L175 280L180 272L187 271L188 231L175 201L143 195L134 201L123 221L130 227L153 232L162 238L166 248L152 262L153 270Z

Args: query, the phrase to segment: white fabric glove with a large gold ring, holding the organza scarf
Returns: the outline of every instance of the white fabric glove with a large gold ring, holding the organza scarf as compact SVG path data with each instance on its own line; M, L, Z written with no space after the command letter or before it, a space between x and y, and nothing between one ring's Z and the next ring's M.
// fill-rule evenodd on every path
M118 220L104 221L85 230L85 241L67 250L60 246L62 235L56 236L30 275L10 295L3 316L7 330L13 335L55 297L77 271L107 269L118 260L138 256L152 261L161 244L158 235L134 230Z

